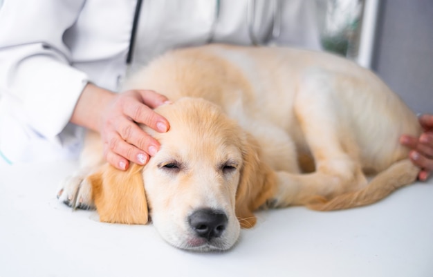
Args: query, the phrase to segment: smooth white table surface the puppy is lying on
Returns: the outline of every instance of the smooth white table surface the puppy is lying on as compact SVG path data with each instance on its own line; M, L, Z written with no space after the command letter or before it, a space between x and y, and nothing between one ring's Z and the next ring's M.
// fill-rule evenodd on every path
M433 180L348 211L261 211L232 250L200 254L57 202L75 166L0 166L0 276L433 276Z

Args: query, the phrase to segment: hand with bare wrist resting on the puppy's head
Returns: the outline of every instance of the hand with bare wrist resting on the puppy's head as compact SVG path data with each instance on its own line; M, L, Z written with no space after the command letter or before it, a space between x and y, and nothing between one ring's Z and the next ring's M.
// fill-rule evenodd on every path
M146 164L160 144L142 131L138 123L164 133L169 122L154 108L169 102L153 90L113 93L93 84L84 88L71 122L98 131L104 145L104 158L117 169L126 170L129 161Z

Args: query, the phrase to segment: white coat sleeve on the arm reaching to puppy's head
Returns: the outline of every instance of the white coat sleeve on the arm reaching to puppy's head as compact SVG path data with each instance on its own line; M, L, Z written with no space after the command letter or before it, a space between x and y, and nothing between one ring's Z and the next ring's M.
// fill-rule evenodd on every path
M5 0L0 8L2 106L48 140L66 126L88 81L70 66L63 41L84 2Z

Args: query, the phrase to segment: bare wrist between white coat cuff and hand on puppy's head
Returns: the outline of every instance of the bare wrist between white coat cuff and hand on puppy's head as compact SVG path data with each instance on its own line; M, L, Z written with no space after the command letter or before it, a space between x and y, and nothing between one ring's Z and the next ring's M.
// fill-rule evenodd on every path
M87 84L75 105L71 122L99 132L102 114L114 97L116 93L110 90Z

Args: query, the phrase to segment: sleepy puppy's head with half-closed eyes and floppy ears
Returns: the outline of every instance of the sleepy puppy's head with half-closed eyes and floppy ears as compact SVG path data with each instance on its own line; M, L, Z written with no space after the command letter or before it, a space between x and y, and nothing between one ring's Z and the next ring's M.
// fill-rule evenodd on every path
M127 176L116 182L141 181L145 188L134 190L142 194L142 203L130 202L129 209L123 210L140 213L138 218L142 220L141 206L147 198L151 220L170 244L195 251L229 249L239 238L240 227L255 225L252 211L270 198L273 174L260 162L259 148L252 137L214 104L184 98L160 106L157 112L169 120L170 130L146 131L160 142L160 151L142 173L138 166L126 173L114 170ZM130 193L116 194L137 198ZM124 213L120 216L134 217ZM123 218L116 220L126 222Z

